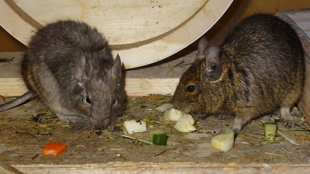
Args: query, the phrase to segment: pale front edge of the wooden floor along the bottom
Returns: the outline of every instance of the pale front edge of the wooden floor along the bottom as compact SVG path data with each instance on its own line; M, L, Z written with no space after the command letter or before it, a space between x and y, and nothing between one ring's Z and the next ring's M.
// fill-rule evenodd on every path
M223 174L223 173L309 173L310 167L308 163L291 164L288 163L260 163L253 165L243 165L236 163L188 163L188 162L110 162L98 164L82 164L82 165L13 165L25 173L48 173L53 169L53 173L93 173L93 174L123 174L123 173L206 173L206 174Z

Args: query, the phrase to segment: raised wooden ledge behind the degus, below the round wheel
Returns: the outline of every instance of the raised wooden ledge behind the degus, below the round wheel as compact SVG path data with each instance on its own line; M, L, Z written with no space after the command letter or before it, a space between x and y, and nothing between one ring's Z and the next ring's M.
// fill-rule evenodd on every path
M195 59L196 51L183 50L166 60L142 67L125 70L125 91L127 95L173 94L181 74ZM0 95L20 96L27 90L19 75L22 52L0 52ZM184 66L175 67L184 60Z

